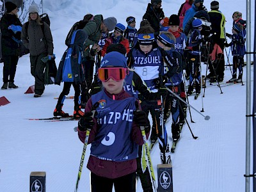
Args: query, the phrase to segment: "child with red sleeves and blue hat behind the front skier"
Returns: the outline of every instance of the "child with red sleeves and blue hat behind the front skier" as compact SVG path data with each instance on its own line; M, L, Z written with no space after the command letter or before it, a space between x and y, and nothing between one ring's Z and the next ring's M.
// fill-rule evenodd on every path
M106 39L106 44L102 48L102 51L101 51L102 57L105 56L107 48L111 44L122 44L126 49L126 53L130 51L129 40L127 40L127 38L124 38L123 36L124 31L125 31L125 26L123 24L120 24L120 23L116 24L114 33L111 36L109 36L109 38Z

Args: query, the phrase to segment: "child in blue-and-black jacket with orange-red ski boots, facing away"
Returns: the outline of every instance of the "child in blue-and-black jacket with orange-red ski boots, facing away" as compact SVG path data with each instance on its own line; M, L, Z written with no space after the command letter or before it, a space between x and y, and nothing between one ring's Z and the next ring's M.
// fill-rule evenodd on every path
M54 109L54 116L69 116L68 113L62 111L62 107L66 97L65 95L68 95L70 92L71 85L75 90L74 118L80 118L84 115L84 112L81 111L81 106L79 105L79 96L81 93L80 84L84 81L84 70L83 65L81 64L81 61L83 60L83 44L87 38L88 35L86 35L83 30L75 31L72 35L71 44L61 58L54 84L60 85L61 81L63 81L64 86L60 93L56 108Z

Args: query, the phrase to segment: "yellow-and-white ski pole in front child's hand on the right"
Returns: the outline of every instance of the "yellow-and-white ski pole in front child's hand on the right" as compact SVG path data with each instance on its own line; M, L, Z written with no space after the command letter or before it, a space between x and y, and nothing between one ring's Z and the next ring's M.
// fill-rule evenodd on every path
M136 104L136 108L137 108L136 111L140 111L139 106L138 106L138 101L136 101L135 104ZM151 161L150 151L149 151L149 148L148 148L145 127L140 126L140 130L141 130L141 134L143 136L143 141L144 141L144 145L145 145L145 151L146 151L146 156L147 156L147 165L148 165L148 168L150 170L150 172L149 172L150 178L152 180L154 191L157 192L156 177L155 177L154 168L153 168L152 161Z

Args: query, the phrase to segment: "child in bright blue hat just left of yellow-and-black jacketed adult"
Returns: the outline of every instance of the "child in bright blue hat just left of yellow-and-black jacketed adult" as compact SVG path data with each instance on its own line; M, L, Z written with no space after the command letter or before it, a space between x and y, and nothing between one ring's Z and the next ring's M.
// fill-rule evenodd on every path
M193 32L189 37L189 45L188 49L188 63L190 68L189 75L189 87L188 87L188 95L193 93L193 85L196 85L196 95L199 95L201 92L200 88L200 44L202 42L202 35L200 31L202 30L202 21L200 19L195 19L192 22Z

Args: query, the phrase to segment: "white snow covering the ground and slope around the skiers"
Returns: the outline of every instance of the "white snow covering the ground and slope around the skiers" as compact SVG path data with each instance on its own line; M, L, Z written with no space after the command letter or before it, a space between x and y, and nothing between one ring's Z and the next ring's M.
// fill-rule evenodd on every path
M137 28L145 12L148 1L47 1L45 12L51 17L51 29L54 38L54 53L56 63L60 61L66 49L64 41L69 28L75 21L90 12L102 13L104 17L115 16L118 22L125 24L127 16L137 19ZM177 13L183 1L168 3L163 1L163 9L168 17ZM205 1L210 10L211 1ZM243 12L245 19L246 4L241 1L221 2L220 9L227 17L227 31L231 30L231 16L237 11ZM233 5L234 4L234 5ZM168 9L167 9L168 7ZM254 4L253 4L254 8ZM125 10L125 13L124 13ZM129 11L126 11L129 10ZM254 23L254 13L252 15ZM63 22L65 21L65 22ZM252 25L252 29L253 29ZM253 42L253 41L252 41ZM230 57L230 60L232 58ZM34 84L30 74L29 56L19 60L15 83L17 90L0 90L0 97L10 100L10 104L0 107L0 191L17 192L29 190L29 175L31 172L46 172L47 192L72 191L75 188L77 172L81 159L83 143L77 138L73 128L76 121L42 122L28 118L47 118L52 116L61 86L46 86L44 95L34 98L33 94L24 94L29 86ZM206 65L202 65L205 74ZM252 72L252 70L251 70ZM3 63L0 64L0 74L3 73ZM225 79L230 79L230 68L225 69ZM246 68L244 68L244 81ZM214 83L216 84L216 83ZM246 83L244 83L246 84ZM253 84L253 83L252 83ZM191 109L191 123L188 122L197 140L191 136L188 125L184 125L175 154L172 154L173 189L179 192L227 192L244 191L245 179L245 131L246 131L246 86L241 84L226 86L222 84L222 94L218 86L211 86L207 81L205 97L203 98L204 115L211 116L206 121L204 117ZM72 90L70 95L74 95ZM202 110L202 98L194 100L189 97L189 103L198 111ZM63 110L72 113L74 102L65 100ZM171 140L171 120L166 127ZM86 150L88 159L90 145ZM159 148L152 151L152 162L160 163ZM90 191L90 172L86 161L79 184L79 191ZM142 191L140 183L138 190Z

